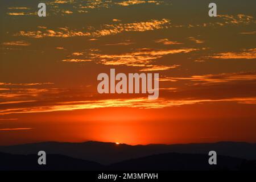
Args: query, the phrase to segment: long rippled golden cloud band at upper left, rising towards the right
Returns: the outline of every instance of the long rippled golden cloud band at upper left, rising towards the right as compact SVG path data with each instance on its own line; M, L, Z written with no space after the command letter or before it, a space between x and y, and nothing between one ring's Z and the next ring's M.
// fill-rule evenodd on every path
M73 36L107 36L115 35L121 32L144 32L150 30L158 30L162 28L167 28L170 24L170 20L161 19L161 20L149 20L147 22L135 22L135 23L119 23L119 24L104 24L104 28L101 30L96 30L94 32L82 32L76 30L69 30L68 27L59 28L59 30L38 30L38 31L19 31L14 34L15 36L27 36L31 38L45 38L45 37L59 37L59 38L68 38Z

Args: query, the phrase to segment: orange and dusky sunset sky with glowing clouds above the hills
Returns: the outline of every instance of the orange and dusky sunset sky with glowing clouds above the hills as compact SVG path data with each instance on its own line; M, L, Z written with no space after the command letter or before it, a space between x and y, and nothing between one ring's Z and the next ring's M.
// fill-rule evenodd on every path
M256 1L2 0L0 145L256 142ZM159 98L97 75L159 73Z

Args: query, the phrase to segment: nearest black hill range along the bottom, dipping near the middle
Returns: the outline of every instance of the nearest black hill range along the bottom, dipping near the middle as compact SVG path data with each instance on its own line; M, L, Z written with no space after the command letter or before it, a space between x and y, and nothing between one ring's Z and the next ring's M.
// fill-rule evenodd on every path
M207 156L203 154L158 154L138 159L126 160L103 166L82 159L63 155L47 155L47 164L39 165L37 155L13 155L0 152L0 171L222 171L222 170L256 170L255 161L247 161L228 156L218 156L217 165L210 166Z

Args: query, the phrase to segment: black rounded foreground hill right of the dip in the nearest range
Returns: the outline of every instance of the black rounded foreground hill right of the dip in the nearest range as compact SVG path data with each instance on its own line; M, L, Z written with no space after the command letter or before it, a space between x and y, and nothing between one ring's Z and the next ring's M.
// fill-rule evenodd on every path
M240 170L246 160L229 156L218 156L217 165L209 165L208 156L202 154L158 154L138 159L126 160L110 165L118 170L146 171L209 171Z

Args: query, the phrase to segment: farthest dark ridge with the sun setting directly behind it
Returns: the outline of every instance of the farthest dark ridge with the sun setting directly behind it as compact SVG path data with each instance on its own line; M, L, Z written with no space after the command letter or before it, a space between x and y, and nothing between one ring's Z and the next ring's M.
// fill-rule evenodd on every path
M235 158L248 160L256 159L256 144L245 142L130 146L127 144L117 145L115 143L91 141L83 143L42 142L15 146L0 146L0 152L9 154L38 154L40 150L46 151L47 154L60 154L101 164L112 164L123 160L169 152L204 154L208 156L208 152L211 150L216 151L218 155L233 156Z

